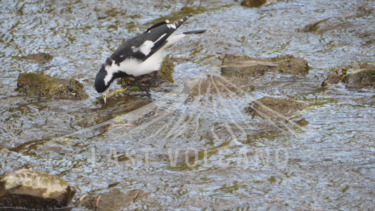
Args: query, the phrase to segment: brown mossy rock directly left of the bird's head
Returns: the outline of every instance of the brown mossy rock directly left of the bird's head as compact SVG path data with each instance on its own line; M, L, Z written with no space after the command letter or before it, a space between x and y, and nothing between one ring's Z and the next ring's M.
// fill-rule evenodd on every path
M25 72L18 75L17 91L34 96L78 100L87 98L83 85L76 79L59 79L43 73Z

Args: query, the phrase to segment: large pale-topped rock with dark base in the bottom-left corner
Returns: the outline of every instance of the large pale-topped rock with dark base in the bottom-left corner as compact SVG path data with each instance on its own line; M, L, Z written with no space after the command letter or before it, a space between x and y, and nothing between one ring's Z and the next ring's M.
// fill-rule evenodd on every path
M0 208L70 210L68 205L75 192L75 188L57 176L45 172L17 170L0 179Z

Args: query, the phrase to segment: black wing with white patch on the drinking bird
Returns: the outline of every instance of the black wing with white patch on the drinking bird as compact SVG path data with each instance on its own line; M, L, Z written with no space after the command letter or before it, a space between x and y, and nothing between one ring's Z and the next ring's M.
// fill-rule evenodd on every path
M143 34L128 39L110 56L108 63L115 61L115 63L120 64L127 58L136 58L142 61L146 60L153 55L153 53L165 46L165 44L167 44L167 38L190 18L191 15L192 14L174 23L170 23L167 20L157 23L149 27Z

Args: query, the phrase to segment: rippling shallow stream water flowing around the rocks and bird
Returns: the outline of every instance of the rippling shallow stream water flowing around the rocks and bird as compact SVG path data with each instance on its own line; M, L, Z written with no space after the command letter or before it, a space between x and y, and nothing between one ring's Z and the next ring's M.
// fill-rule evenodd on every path
M2 0L0 175L49 172L78 196L141 191L125 210L374 210L374 89L320 87L331 68L374 64L374 8L370 0L275 0L259 8L237 1ZM172 91L98 103L96 72L117 46L189 13L179 32L208 31L167 49L176 60L174 84L166 85ZM53 58L24 58L32 53ZM307 60L310 72L266 73L241 94L217 94L224 79L212 81L216 94L184 93L184 82L219 76L227 53L291 54ZM15 91L21 72L78 79L89 98L25 96ZM303 103L305 124L245 113L264 96Z

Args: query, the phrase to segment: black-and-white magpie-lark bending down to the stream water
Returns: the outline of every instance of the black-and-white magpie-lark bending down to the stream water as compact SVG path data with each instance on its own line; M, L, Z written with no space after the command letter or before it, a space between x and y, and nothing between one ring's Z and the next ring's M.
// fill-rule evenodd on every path
M174 31L191 15L193 14L173 23L165 20L149 27L146 32L125 41L106 59L106 63L101 65L95 79L95 89L103 95L104 103L106 103L108 89L114 79L138 77L160 70L164 56L163 50L167 46L174 44L187 34L200 34L206 31L194 30L174 34Z

